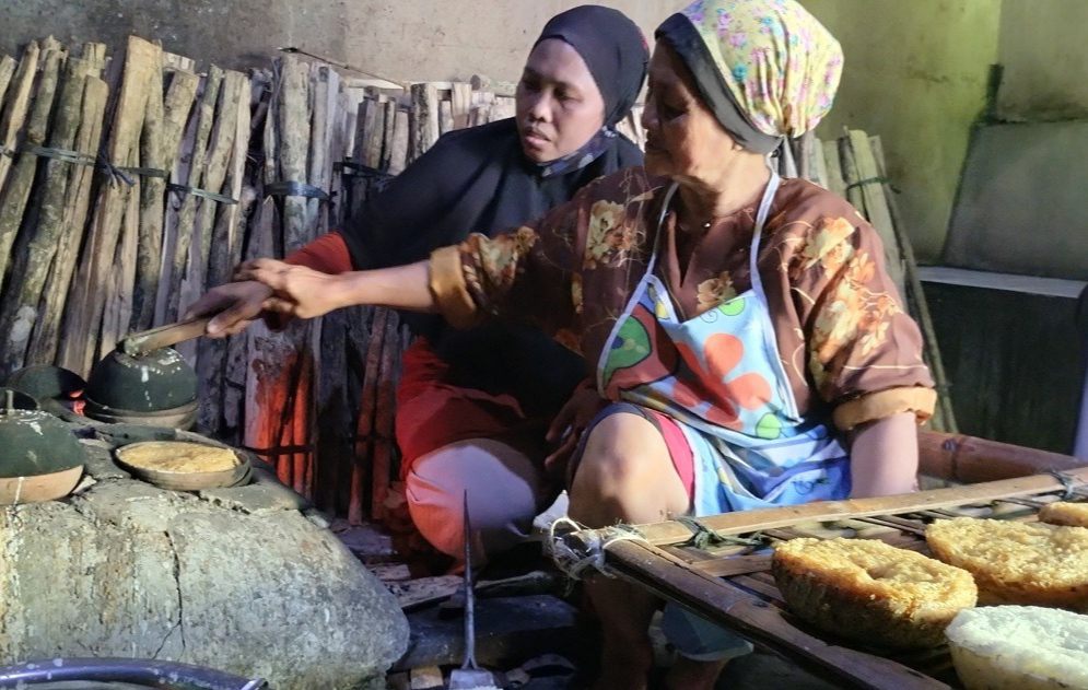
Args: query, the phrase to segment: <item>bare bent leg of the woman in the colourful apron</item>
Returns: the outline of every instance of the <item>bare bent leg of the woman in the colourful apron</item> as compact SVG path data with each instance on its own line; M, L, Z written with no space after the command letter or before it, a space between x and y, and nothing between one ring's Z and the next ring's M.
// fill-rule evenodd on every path
M688 491L653 423L617 412L593 426L571 486L573 519L589 527L654 523L688 508ZM636 586L600 576L586 582L586 592L604 632L596 687L645 688L653 663L647 630L657 601Z

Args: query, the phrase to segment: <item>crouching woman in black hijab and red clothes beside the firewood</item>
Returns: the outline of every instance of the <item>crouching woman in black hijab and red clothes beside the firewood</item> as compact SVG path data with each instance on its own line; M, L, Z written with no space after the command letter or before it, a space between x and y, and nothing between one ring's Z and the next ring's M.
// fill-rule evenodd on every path
M634 105L647 61L642 33L621 12L584 5L558 14L525 65L515 118L443 136L348 227L288 261L329 273L410 264L469 231L493 234L538 218L597 177L641 165L642 152L613 127ZM244 329L270 294L231 283L191 313L222 312L208 329L222 337ZM458 557L467 491L485 552L501 551L552 498L545 434L586 376L582 359L508 321L454 331L436 317L408 319L420 338L405 353L397 442L412 518L428 541Z

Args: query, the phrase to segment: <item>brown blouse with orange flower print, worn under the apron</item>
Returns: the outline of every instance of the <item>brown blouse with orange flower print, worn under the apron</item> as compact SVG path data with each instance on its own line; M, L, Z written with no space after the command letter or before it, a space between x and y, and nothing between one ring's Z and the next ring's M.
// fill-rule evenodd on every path
M641 167L620 171L535 223L435 252L440 309L461 326L487 314L529 320L595 363L655 243L655 272L681 319L748 290L759 198L697 235L679 231L670 209L658 224L668 185ZM843 430L904 411L928 419L936 395L921 334L885 271L879 237L850 203L784 180L758 267L802 414L831 413Z

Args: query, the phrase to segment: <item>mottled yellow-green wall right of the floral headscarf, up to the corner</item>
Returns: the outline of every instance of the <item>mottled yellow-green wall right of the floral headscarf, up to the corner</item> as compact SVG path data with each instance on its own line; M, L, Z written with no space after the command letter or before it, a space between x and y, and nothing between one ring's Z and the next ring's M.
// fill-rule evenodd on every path
M1061 0L1056 0L1061 1ZM997 59L1001 0L804 0L846 56L821 138L880 135L921 261L944 245L970 126ZM1088 3L1086 3L1088 4Z

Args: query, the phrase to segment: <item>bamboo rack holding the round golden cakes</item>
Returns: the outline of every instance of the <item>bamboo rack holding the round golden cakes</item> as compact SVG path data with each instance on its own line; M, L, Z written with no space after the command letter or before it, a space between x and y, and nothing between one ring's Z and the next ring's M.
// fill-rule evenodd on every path
M925 526L933 519L1034 519L1048 502L1088 501L1088 467L1078 467L1083 463L1076 458L969 436L925 433L920 441L924 473L981 483L712 515L695 523L583 529L559 538L580 555L605 543L609 573L736 630L840 687L959 688L947 647L889 653L815 631L791 615L770 573L771 547L782 540L876 538L926 552ZM623 531L637 538L615 539Z

